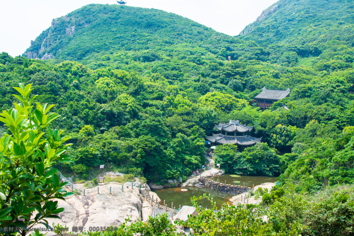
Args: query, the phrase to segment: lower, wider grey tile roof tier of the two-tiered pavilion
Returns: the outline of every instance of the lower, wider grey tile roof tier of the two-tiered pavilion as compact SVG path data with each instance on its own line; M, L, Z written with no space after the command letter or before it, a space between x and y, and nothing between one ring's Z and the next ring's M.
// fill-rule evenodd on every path
M261 142L262 138L254 138L247 136L226 136L223 134L213 134L213 136L206 136L206 139L212 143L219 144L238 144L241 146L248 146Z

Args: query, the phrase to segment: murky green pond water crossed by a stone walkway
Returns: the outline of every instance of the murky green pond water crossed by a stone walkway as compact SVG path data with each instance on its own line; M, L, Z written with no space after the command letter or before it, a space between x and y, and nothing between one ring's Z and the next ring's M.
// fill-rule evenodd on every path
M214 180L216 181L216 179L217 178L215 177ZM274 177L259 176L259 175L257 176L241 175L240 178L231 177L230 174L224 174L219 176L220 182L224 183L225 180L229 183L238 180L240 181L240 183L236 185L243 186L243 183L245 183L245 186L251 188L253 184L255 184L256 186L267 182L271 182L271 183L276 182L276 178ZM159 196L159 198L162 201L165 200L169 207L171 206L171 202L173 202L173 205L177 206L176 208L178 208L179 205L192 206L192 202L190 201L190 198L193 196L196 197L203 196L203 194L205 193L207 195L211 194L211 197L213 198L213 201L216 202L216 206L218 208L221 207L223 203L229 203L231 205L229 199L233 197L233 195L223 194L221 192L216 192L204 187L198 188L195 186L190 186L185 188L188 189L188 191L185 192L181 191L181 189L182 188L166 188L166 189L152 190L152 191L156 192L156 194ZM208 208L212 207L211 203L206 199L198 200L198 205L199 204L201 204L202 207L208 207Z

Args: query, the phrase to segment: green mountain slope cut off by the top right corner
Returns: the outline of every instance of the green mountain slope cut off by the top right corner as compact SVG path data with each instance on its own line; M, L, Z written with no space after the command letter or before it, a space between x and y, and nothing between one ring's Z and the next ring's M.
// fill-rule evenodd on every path
M262 45L304 45L326 42L338 35L354 41L354 1L280 0L241 31L241 38ZM314 52L318 54L318 52ZM318 55L315 55L318 56Z

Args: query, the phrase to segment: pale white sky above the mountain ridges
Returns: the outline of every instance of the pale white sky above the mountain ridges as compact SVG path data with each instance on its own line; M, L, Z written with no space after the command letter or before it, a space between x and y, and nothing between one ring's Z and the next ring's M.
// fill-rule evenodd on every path
M126 0L128 6L173 12L216 31L238 35L276 0ZM2 0L0 52L22 54L43 30L58 18L91 3L116 4L116 0Z

